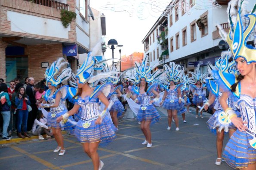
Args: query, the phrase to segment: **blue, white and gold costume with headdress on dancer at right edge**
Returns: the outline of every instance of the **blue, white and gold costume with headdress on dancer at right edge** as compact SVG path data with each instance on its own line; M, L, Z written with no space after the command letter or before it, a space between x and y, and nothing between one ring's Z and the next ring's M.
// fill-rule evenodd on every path
M254 36L255 39L255 34L250 35L250 33L252 33L256 25L256 5L251 13L241 16L241 14L247 13L243 3L244 1L233 0L228 3L228 18L232 19L232 21L229 20L231 29L228 34L221 33L221 35L227 35L224 39L230 47L234 61L237 58L244 58L247 64L251 64L256 62L256 48L248 45L247 39L250 36ZM236 12L237 15L235 15ZM245 19L247 21L244 21ZM235 23L234 20L236 20ZM222 31L220 30L220 32ZM217 72L219 79L222 82L222 86L227 90L230 90L231 85L237 82L236 70L229 69L234 65L234 61L228 62L228 56L226 56L223 60L216 62L216 66L219 68ZM237 98L236 106L240 110L242 120L248 123L244 124L248 129L242 132L235 131L223 152L223 158L226 163L236 169L247 168L250 164L256 164L256 97L253 98L246 94L241 94L241 88L247 87L241 87L239 82L232 94ZM221 122L226 124L236 114L232 108L229 108L221 116Z

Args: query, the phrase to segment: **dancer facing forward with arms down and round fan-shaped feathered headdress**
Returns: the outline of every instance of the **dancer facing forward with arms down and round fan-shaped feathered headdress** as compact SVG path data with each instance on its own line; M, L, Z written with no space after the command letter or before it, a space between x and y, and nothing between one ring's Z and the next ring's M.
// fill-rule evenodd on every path
M174 82L179 82L183 72L179 65L176 65L175 63L171 62L170 67L168 65L165 65L167 67L167 70L165 71L167 75L167 81L170 82L170 85L163 85L165 91L163 94L163 99L160 105L163 103L163 109L167 109L168 114L168 127L167 130L171 130L171 123L172 118L175 121L176 124L176 131L179 131L179 119L178 119L178 112L185 113L185 107L182 103L182 97L181 97L181 90L183 84L174 85Z

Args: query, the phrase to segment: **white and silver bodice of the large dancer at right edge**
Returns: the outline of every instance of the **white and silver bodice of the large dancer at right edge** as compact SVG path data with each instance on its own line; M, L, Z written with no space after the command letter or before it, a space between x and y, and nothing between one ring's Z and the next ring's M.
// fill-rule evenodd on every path
M241 94L240 99L237 101L237 106L240 109L241 118L248 122L248 130L256 133L256 97L253 99L250 96Z

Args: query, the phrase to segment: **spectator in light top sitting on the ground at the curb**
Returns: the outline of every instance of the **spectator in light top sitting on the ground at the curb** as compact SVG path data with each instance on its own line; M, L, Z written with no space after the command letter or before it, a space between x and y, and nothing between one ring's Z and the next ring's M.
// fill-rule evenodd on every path
M41 111L37 112L37 118L34 121L33 125L33 135L38 135L38 139L44 140L42 134L46 134L47 138L51 138L53 135L50 133L50 128L46 126L47 119L43 117L43 113Z

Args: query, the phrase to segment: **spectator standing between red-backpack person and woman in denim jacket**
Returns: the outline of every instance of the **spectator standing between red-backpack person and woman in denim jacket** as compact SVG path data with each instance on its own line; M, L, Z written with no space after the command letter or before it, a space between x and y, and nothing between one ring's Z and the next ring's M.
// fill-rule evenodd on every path
M12 94L15 92L15 81L11 80L10 81L10 87L8 88L8 94L9 94L9 98L12 101ZM15 99L15 98L14 98ZM15 130L15 121L16 121L16 116L14 115L14 111L15 111L15 106L11 107L11 114L10 114L10 122L9 122L9 126L8 126L8 134L12 135L12 131L16 131Z

